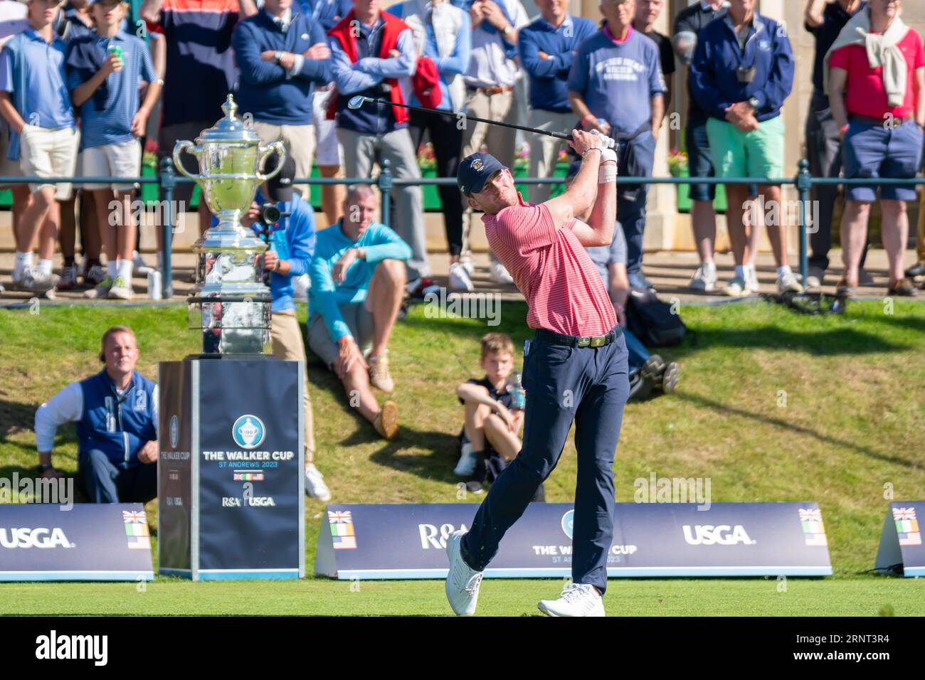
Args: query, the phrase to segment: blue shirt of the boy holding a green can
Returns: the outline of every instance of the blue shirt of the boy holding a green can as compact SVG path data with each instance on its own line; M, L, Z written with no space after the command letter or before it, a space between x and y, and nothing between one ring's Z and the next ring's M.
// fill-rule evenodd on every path
M108 56L110 45L122 48L122 70L110 73L103 85L80 105L80 148L105 146L134 139L131 119L138 113L139 84L157 75L148 46L141 38L119 31L112 38L88 35L70 44L68 90L93 78Z

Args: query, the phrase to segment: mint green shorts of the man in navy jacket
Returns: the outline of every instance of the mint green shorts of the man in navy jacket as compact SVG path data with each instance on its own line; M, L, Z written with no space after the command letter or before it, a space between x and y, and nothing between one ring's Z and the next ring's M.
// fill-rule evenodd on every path
M718 118L707 121L709 151L716 176L782 178L783 116L759 123L759 129L743 132Z

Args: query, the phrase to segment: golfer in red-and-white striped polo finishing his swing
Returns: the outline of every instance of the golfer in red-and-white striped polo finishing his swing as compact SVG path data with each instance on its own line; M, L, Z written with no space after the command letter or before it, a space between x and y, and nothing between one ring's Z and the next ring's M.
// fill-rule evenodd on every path
M529 305L524 343L523 448L489 488L468 532L447 541L446 592L457 614L475 613L478 588L504 533L559 461L575 423L572 584L542 600L550 616L603 616L613 534L613 457L629 396L626 343L584 246L610 245L616 224L616 154L597 134L573 131L582 156L573 184L543 204L524 203L511 171L488 154L462 160L469 204L483 210L488 244ZM588 223L573 216L594 205ZM551 562L550 562L551 566Z

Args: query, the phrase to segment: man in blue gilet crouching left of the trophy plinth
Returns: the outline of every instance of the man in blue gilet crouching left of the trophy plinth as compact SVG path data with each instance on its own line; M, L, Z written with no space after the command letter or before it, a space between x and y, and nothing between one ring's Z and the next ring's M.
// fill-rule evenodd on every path
M135 372L138 356L131 328L109 328L100 350L105 369L39 406L35 448L43 478L63 476L52 464L55 433L77 423L77 485L90 501L144 503L157 495L157 385Z

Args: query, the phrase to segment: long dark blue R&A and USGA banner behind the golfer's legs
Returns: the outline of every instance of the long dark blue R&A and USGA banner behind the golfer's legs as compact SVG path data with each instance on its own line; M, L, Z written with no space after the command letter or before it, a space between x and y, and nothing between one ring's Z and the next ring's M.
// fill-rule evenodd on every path
M351 578L444 578L447 538L478 506L328 505L314 573ZM487 577L567 576L573 506L531 503L501 540ZM617 503L609 576L832 574L815 502Z

